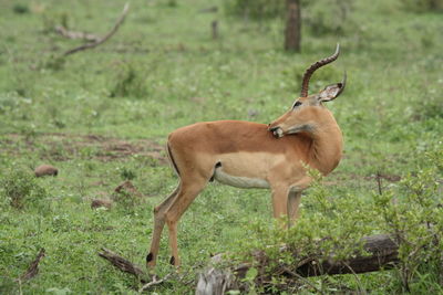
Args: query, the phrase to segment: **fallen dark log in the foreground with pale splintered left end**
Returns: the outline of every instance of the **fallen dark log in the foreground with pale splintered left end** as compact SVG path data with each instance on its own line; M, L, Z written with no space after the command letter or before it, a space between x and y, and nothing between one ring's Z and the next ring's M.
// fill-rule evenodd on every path
M308 276L334 275L334 274L359 274L377 272L380 270L392 268L399 262L398 244L388 234L377 234L363 238L363 249L369 255L357 255L343 261L336 261L333 257L317 255L306 257L298 265L281 265L279 270L271 270L272 273L266 273L265 270L269 263L269 257L264 252L255 253L257 264L254 267L260 268L264 281L270 281L272 275L281 275L289 280L300 280ZM284 250L287 251L287 250ZM220 261L220 256L215 256ZM262 266L262 267L261 267ZM219 289L241 288L241 280L251 267L250 264L241 264L231 267L231 270L215 270L214 267L200 275L197 283L196 294L223 294ZM235 274L235 276L231 275ZM213 293L212 293L213 292Z

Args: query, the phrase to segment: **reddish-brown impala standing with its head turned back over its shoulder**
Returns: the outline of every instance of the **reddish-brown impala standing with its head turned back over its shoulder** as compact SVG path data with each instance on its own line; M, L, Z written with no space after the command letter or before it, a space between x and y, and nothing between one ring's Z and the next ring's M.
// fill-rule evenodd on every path
M328 175L341 159L341 130L322 103L342 93L346 74L341 83L308 96L313 72L337 60L339 51L337 45L334 54L306 71L300 97L269 125L240 120L203 122L169 135L166 151L179 185L154 209L147 266L156 263L165 222L172 250L171 264L179 265L178 220L213 180L238 188L269 188L274 217L287 215L289 224L296 220L301 192L311 181L307 175L308 166Z

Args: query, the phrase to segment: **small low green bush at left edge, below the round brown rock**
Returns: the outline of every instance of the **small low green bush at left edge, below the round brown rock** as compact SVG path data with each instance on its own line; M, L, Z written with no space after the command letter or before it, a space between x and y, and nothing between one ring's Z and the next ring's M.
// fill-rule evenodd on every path
M0 185L2 197L18 209L23 208L28 202L39 201L47 194L31 173L20 169L11 170L1 179Z

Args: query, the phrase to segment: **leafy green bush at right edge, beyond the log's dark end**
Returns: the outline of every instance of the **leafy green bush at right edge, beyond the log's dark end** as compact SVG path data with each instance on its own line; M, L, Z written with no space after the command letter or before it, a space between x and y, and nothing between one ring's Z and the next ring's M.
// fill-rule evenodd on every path
M443 272L443 206L439 186L443 149L425 157L424 168L404 177L398 191L374 196L374 210L384 219L383 230L399 244L403 291L419 292L414 286L426 275L426 288L434 294L442 291L439 281Z

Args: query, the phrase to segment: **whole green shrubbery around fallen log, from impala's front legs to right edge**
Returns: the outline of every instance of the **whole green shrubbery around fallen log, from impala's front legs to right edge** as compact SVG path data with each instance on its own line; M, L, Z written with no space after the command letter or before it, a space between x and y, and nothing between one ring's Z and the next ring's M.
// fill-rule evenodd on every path
M267 260L268 274L281 265L296 272L297 265L306 257L342 261L365 255L362 238L382 232L390 234L399 245L399 280L391 286L395 288L393 292L442 292L443 206L440 186L443 149L437 147L424 155L420 152L418 157L421 158L418 171L406 175L399 185L382 193L373 192L372 202L362 196L333 196L320 183L320 175L311 171L316 181L309 189L309 198L302 202L303 211L309 213L302 214L290 230L281 230L281 224L277 223L274 226L264 221L251 223L247 240L240 242L244 252L239 261L246 259L254 265L257 252L250 250L260 250L270 257ZM289 251L281 251L284 244ZM272 277L279 289L286 286L280 284L281 280Z

